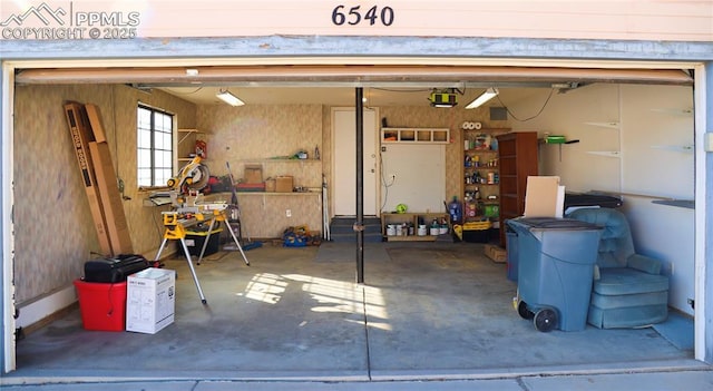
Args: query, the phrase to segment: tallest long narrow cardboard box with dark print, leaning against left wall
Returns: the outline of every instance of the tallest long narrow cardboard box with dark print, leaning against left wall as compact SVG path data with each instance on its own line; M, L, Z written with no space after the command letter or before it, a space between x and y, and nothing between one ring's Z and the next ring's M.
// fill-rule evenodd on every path
M94 227L99 240L99 247L102 254L113 255L109 234L106 228L106 219L99 199L99 190L97 188L96 177L91 165L91 154L89 153L89 143L94 141L91 127L87 119L87 114L81 104L67 102L65 105L65 116L71 135L75 155L79 165L81 182L85 185L85 192L89 201L89 211L94 219Z

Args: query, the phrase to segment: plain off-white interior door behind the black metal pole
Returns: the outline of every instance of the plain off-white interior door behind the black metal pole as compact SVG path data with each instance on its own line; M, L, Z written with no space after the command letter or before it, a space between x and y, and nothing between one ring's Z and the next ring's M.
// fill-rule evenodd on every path
M364 215L377 215L377 111L364 109ZM334 214L356 215L356 110L332 109Z

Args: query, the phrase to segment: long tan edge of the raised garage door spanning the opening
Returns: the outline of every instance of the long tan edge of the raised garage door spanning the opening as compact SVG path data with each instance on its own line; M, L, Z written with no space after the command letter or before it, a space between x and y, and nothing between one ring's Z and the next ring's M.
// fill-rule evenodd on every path
M187 61L189 62L189 61ZM191 69L192 71L187 71ZM193 71L195 70L195 71ZM31 65L18 69L16 82L20 85L129 84L136 87L154 86L191 88L204 86L251 85L254 87L300 86L394 86L450 85L477 87L494 82L518 86L551 86L553 84L586 85L657 84L692 86L692 76L678 69L627 68L559 68L559 67L485 67L485 66L221 66L221 67L144 67L95 68L90 61L68 63L67 68L36 68ZM6 260L6 262L9 262ZM4 286L11 286L12 276L3 275ZM10 297L4 297L8 305ZM11 305L11 303L10 303ZM7 333L4 341L12 341ZM12 346L13 349L13 346Z

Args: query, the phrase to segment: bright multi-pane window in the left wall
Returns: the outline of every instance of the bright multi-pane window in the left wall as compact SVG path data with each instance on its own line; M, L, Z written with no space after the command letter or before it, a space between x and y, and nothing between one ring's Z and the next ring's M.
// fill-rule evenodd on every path
M138 186L165 186L174 172L174 116L139 106L136 117Z

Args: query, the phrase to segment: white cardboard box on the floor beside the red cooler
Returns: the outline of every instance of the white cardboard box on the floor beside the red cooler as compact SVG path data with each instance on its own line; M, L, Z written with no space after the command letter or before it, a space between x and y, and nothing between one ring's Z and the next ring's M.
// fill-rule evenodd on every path
M176 272L149 267L127 278L126 331L155 334L174 322Z

